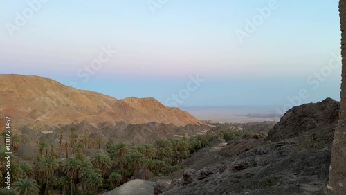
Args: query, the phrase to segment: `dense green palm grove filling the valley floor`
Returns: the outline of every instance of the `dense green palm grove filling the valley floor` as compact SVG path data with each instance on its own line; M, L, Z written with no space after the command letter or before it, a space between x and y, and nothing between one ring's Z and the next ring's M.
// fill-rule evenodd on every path
M221 131L167 138L154 144L129 145L121 142L104 145L103 140L78 136L71 128L60 132L57 145L39 142L37 156L21 159L12 154L12 190L5 189L5 147L0 146L0 194L98 194L126 183L138 168L147 167L154 176L165 176L183 168L182 161L213 140L226 141L242 136L242 131ZM15 149L20 137L16 136ZM85 149L95 150L91 156ZM59 154L62 154L60 156Z

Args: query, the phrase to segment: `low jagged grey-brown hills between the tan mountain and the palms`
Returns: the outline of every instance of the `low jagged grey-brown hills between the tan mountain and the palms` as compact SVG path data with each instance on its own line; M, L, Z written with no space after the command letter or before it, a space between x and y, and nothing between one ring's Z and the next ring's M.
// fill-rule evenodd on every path
M129 144L139 145L154 143L158 139L183 137L185 133L188 133L188 136L193 136L199 133L206 133L210 129L205 124L188 124L182 127L176 127L173 124L156 122L149 122L147 124L129 124L128 122L90 124L85 120L76 124L63 125L53 131L35 131L28 127L21 127L18 132L20 138L18 156L24 158L37 154L37 142L39 141L59 145L60 135L63 135L62 142L65 142L66 138L69 138L71 127L75 128L75 133L80 138L87 137L92 140L102 140L101 148L105 148L107 142L127 142Z

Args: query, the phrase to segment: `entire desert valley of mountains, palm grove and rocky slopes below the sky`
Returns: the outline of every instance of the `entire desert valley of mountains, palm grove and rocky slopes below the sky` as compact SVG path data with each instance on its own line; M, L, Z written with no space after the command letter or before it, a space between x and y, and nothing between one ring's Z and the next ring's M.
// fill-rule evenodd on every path
M331 99L293 107L280 122L216 123L154 98L0 80L19 190L21 178L42 194L322 194L327 183L340 109Z

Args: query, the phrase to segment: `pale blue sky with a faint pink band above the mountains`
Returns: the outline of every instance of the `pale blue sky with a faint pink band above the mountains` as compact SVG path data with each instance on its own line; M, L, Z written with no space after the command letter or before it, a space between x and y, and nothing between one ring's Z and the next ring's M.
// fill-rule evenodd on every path
M0 73L167 106L340 100L338 0L0 0Z

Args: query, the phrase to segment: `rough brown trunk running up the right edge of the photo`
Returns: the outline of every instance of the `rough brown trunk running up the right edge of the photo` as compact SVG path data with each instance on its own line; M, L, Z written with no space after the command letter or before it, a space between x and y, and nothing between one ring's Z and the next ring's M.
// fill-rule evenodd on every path
M346 0L339 1L341 24L341 56L342 82L341 107L338 122L334 133L333 147L331 148L331 165L329 167L329 182L327 194L346 194Z

